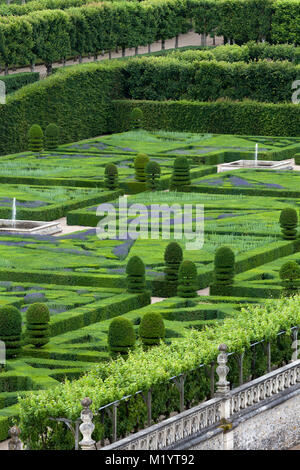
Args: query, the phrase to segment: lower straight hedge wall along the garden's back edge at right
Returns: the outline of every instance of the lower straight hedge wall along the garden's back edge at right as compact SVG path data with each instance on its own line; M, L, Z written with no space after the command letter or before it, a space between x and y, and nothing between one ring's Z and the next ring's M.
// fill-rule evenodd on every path
M129 114L138 106L147 130L212 132L242 135L300 135L300 106L254 101L134 101L114 102L112 132L128 130Z

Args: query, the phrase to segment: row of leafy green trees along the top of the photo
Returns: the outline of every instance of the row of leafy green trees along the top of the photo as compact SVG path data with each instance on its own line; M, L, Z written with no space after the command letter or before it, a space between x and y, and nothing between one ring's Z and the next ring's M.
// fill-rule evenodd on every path
M70 5L76 5L70 3ZM300 3L292 0L146 0L107 2L49 10L0 20L0 63L8 66L53 62L116 48L146 46L186 33L242 44L254 40L300 43ZM27 11L24 9L27 13ZM20 14L20 13L19 13ZM243 18L243 21L240 19ZM178 41L177 41L178 43ZM149 48L150 50L150 48Z

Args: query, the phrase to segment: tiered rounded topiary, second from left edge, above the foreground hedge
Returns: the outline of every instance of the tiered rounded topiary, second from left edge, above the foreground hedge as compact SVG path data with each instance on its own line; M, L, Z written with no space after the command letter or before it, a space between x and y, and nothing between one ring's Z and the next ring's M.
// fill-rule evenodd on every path
M50 313L46 304L34 303L26 311L26 339L40 348L49 342Z

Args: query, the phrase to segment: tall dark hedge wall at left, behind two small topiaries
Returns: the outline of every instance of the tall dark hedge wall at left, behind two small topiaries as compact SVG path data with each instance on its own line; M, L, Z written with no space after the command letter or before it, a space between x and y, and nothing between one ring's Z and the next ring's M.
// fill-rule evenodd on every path
M103 134L110 127L111 99L120 96L117 64L72 67L28 85L0 105L0 153L25 150L35 123L45 128L55 122L62 142Z

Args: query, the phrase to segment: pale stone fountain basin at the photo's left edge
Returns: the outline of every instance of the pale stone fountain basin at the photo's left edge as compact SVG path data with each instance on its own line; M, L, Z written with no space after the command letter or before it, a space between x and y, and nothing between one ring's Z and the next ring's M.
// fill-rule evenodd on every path
M0 219L0 233L21 233L28 235L53 235L62 231L59 222L42 222L40 220Z

